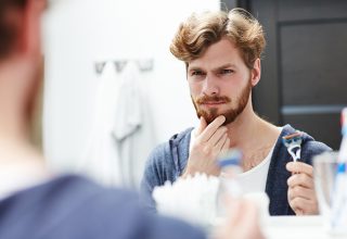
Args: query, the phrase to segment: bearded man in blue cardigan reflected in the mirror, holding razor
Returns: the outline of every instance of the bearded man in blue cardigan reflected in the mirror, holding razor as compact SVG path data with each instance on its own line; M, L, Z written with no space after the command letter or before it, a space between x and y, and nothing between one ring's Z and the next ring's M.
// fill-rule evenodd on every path
M331 149L303 133L301 159L294 163L282 137L296 129L255 113L252 89L260 80L265 45L261 25L242 9L192 14L179 26L170 51L185 63L200 125L172 136L149 156L141 183L149 210L155 211L154 187L195 173L219 176L218 155L237 148L244 173L236 179L244 193L266 191L271 215L318 213L311 160Z

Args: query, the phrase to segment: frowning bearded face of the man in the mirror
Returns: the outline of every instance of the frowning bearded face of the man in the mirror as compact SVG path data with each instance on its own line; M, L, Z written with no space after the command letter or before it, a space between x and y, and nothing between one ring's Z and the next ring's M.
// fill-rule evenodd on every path
M250 70L234 43L227 39L211 45L188 66L188 81L197 117L207 124L224 115L232 123L245 109L252 91Z

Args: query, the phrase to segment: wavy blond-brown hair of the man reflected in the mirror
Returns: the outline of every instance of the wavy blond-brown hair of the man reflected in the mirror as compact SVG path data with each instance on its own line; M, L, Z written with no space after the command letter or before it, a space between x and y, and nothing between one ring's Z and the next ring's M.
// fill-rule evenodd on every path
M229 13L193 13L180 24L170 51L188 66L190 61L202 56L210 45L227 38L241 50L247 67L253 68L266 46L264 35L262 26L244 9L233 9Z

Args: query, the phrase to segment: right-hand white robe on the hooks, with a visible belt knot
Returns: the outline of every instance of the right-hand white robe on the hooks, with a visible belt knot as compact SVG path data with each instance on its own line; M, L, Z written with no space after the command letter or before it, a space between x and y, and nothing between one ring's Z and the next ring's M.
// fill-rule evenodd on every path
M113 135L119 153L124 186L138 189L144 163L155 147L152 111L146 97L147 83L134 61L129 61L119 77Z

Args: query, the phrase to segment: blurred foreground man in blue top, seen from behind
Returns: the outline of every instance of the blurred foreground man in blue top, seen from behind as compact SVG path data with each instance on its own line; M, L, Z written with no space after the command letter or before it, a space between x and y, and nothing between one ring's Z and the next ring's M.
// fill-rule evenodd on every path
M137 193L46 164L29 140L41 78L46 0L0 0L0 238L204 239L201 228L144 212ZM257 209L230 200L218 239L262 239ZM228 206L229 207L229 206Z

